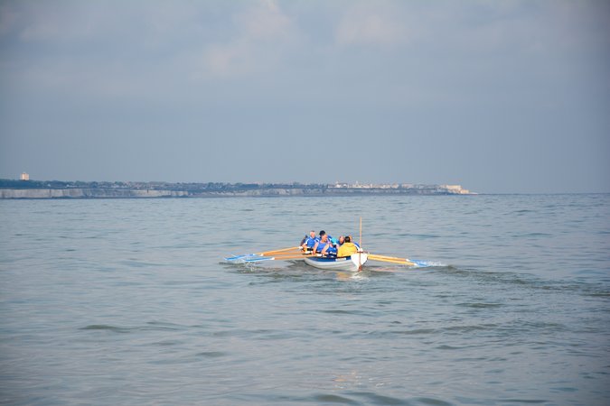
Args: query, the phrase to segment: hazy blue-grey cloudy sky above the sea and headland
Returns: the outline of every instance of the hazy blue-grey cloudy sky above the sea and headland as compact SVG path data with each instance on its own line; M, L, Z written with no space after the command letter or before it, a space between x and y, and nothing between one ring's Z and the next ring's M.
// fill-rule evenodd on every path
M610 192L610 2L0 0L0 178Z

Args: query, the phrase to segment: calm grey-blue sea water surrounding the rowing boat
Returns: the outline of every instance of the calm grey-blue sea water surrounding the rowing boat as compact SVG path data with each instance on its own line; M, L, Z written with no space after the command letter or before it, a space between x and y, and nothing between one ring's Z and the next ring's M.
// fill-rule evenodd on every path
M225 263L358 235L359 274ZM3 404L607 405L610 196L0 201Z

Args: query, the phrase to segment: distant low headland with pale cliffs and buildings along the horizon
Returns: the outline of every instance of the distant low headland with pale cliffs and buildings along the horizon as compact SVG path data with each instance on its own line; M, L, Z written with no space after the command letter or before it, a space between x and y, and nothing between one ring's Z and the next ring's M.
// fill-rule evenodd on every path
M27 178L27 179L23 179ZM472 195L460 185L411 183L170 183L0 180L0 198L238 198L359 195Z

